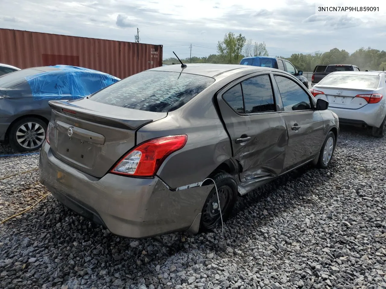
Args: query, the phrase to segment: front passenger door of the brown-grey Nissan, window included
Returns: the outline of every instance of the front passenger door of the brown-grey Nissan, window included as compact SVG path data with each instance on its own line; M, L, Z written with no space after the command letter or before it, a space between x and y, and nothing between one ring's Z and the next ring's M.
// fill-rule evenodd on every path
M323 119L305 87L285 74L274 74L275 89L281 96L288 131L288 148L283 171L315 157L323 138Z

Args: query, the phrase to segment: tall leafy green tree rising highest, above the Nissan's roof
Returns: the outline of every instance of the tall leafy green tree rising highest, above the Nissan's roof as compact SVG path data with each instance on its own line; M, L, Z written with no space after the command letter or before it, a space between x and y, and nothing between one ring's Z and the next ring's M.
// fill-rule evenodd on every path
M233 32L225 34L223 41L218 41L217 51L225 60L226 63L236 64L242 59L241 51L246 42L246 38L241 35L237 36Z

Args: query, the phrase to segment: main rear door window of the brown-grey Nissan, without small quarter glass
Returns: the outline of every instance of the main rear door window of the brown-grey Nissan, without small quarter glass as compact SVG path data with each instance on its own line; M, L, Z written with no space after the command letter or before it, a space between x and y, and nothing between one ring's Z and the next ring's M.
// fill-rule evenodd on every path
M241 82L245 113L275 111L275 103L269 76L255 76Z

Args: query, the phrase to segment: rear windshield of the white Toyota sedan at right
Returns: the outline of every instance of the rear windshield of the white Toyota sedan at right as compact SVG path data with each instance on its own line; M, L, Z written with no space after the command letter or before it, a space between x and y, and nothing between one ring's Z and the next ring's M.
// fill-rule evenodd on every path
M334 73L328 74L318 85L352 89L376 89L378 84L378 75Z

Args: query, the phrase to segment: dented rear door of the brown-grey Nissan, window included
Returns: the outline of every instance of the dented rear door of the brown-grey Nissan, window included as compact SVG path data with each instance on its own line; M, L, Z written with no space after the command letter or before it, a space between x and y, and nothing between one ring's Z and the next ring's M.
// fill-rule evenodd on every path
M281 173L287 129L268 73L246 76L217 94L242 183Z

